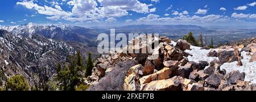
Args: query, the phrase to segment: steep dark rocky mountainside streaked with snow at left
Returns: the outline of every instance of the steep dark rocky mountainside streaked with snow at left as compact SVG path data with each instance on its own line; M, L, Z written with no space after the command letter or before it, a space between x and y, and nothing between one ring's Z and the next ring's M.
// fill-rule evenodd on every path
M23 37L0 30L0 86L13 75L23 75L31 85L43 76L56 72L56 64L76 53L65 42L46 39L40 35Z

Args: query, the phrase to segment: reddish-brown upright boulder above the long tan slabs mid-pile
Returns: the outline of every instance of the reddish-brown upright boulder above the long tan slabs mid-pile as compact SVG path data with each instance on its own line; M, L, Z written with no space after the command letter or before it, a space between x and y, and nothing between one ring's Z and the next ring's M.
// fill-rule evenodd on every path
M155 66L151 63L151 61L147 60L142 69L142 73L143 75L148 75L148 74L154 73L154 70L155 70Z

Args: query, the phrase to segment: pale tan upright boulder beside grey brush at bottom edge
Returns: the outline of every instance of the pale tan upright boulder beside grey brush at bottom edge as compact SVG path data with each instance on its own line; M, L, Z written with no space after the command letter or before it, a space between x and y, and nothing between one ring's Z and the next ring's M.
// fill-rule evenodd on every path
M125 78L125 83L123 83L123 90L125 91L139 91L140 84L138 83L139 76L133 73Z

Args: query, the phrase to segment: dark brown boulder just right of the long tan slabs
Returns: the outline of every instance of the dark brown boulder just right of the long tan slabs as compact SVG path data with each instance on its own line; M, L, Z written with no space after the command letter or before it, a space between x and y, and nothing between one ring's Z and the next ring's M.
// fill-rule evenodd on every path
M192 68L190 66L181 66L177 70L177 75L183 78L189 78L189 74L192 72Z

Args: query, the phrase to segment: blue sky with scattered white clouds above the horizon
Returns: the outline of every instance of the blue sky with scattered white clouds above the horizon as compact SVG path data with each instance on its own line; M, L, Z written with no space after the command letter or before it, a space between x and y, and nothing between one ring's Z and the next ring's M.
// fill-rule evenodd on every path
M194 24L256 27L255 0L10 0L0 25Z

